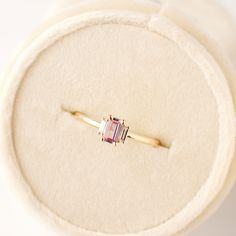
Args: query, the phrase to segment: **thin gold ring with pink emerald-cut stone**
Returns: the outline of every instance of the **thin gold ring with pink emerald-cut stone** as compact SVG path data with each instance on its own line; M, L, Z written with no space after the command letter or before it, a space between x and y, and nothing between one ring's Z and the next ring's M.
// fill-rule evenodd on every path
M129 126L125 124L124 120L115 118L111 115L104 117L101 122L97 122L79 111L71 112L71 114L76 119L98 128L98 134L101 135L101 140L104 142L116 145L117 143L124 143L126 138L131 138L141 143L149 144L153 147L163 146L159 139L130 132Z

